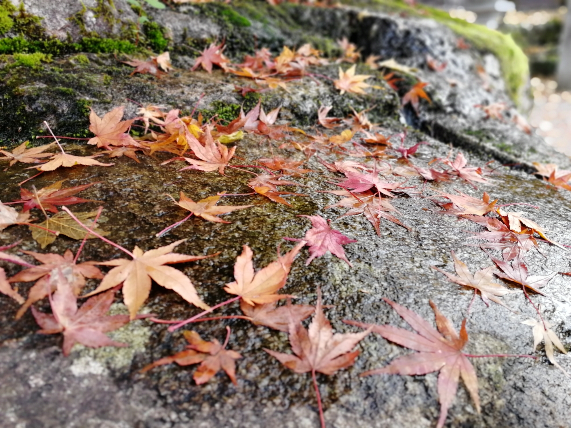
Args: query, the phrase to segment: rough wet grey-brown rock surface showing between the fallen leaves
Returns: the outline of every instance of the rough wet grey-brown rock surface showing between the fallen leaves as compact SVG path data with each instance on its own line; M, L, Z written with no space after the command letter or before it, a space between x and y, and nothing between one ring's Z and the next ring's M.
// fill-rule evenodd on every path
M33 3L27 1L25 5L31 7ZM41 8L42 3L38 2L38 7ZM119 9L118 5L116 1L115 6ZM375 84L380 88L362 97L340 96L328 80L320 79L318 82L304 78L289 84L289 92L278 89L263 94L264 108L270 110L282 106L280 121L303 127L308 132L315 132L312 126L320 105L333 105L332 114L337 116L350 114L351 108L357 111L371 108L369 119L383 124L387 134L407 130L405 146L421 140L429 143L420 147L413 159L416 165L425 167L434 158L444 158L451 148L456 152L451 145L459 147L472 165L483 166L490 160L499 161L494 164L498 168L496 175L492 176L493 183L478 185L477 191L468 184L453 181L429 184L423 194L432 194L430 188L445 192L458 189L477 197L487 191L501 203L538 205L538 210L525 207L522 211L529 212L531 219L547 229L550 238L561 243L571 241L568 232L571 193L548 188L543 181L524 171L530 169L530 163L536 160L553 161L569 168L568 158L551 150L537 136L524 134L509 120L484 120L482 112L473 108L473 104L498 101L513 105L506 95L498 60L493 55L475 49L456 50L457 36L448 27L428 19L378 11L360 14L356 9L314 10L286 6L276 9L272 12L274 16L267 18L271 23L275 22L271 19L276 17L288 17L279 26L253 18L251 26L236 26L221 18L228 15L213 15L212 11L218 10L216 7L181 6L166 11L148 11L155 22L171 32L175 42L175 65L188 67L192 56L195 56L188 49L191 45L185 37L201 39L204 43L203 39L217 35L233 35L235 38L228 39L227 43L235 55L238 55L240 46L253 41L254 36L259 46L267 43L274 49L280 49L284 42L293 45L303 41L323 43L327 47L327 43L333 46L332 41L336 38L350 37L363 47L365 54L382 54L419 68L419 78L431 83L427 89L434 100L432 105L422 104L419 119L408 107L400 110L397 94L384 84L380 75L375 77ZM264 3L259 3L259 7L266 8ZM42 9L34 13L47 17L49 7L44 10L45 13ZM224 6L220 10L229 9ZM240 12L246 14L244 10L248 9ZM195 33L189 33L191 29ZM446 70L441 73L427 70L427 53L447 60ZM88 136L87 105L103 114L124 104L126 117L132 118L136 106L127 102L127 98L142 104L164 104L187 112L196 105L205 114L215 114L222 107L236 109L242 103L248 110L257 101L234 91L234 84L245 84L246 80L220 71L208 75L181 68L157 80L148 75L130 77L132 68L124 66L111 54L92 53L86 57L89 63L77 55L59 56L51 63L39 64L38 68L26 68L13 58L3 58L0 72L6 85L0 88L3 95L1 115L9 124L0 130L3 144L15 147L23 139L39 132L43 134L42 120L48 120L57 135ZM480 77L475 72L478 63L490 76L490 91L482 89ZM367 70L363 67L361 71ZM337 66L320 67L315 72L335 78ZM456 80L456 86L451 86L447 79ZM206 95L200 99L202 93ZM247 135L240 141L236 151L236 155L244 158L240 163L251 164L260 156L267 156L267 144L262 143L264 140L256 135ZM94 151L91 147L73 143L67 143L66 148L74 154L91 154ZM303 155L295 150L274 148L274 151L286 157L303 159ZM332 154L320 156L329 161L336 159ZM110 232L110 239L126 248L138 245L149 249L188 238L177 248L178 252L203 255L220 251L214 259L179 265L192 278L200 296L208 304L226 299L222 286L232 280L234 260L243 244L252 247L254 263L260 268L275 259L279 244L288 247L282 237L301 237L308 229L308 222L300 221L296 215L319 214L336 219L344 212L339 208L324 209L338 198L319 191L335 189L336 186L326 182L324 175L332 174L325 172L313 157L307 164L313 172L295 179L307 186L297 188L297 192L308 196L288 197L292 207L261 197L233 197L231 204L251 203L255 207L228 215L226 219L232 221L231 224L214 224L192 218L166 236L156 238L156 232L186 216L186 212L176 208L164 193L176 195L184 191L193 199L200 199L221 191L249 191L246 181L250 175L245 172L230 168L226 176L217 172L179 172L180 164L160 165L160 161L170 157L159 152L156 157L143 157L140 164L119 158L114 160L114 167L75 167L46 172L31 183L41 188L63 178L68 180L67 185L103 181L87 189L82 196L104 202L107 220L101 227ZM395 163L395 160L389 159L389 162ZM510 169L499 166L500 163L518 164L524 168ZM16 199L19 193L17 183L31 175L33 172L19 165L1 172L0 181L4 184L1 199ZM423 180L417 177L411 177L407 183L423 187ZM455 251L472 272L490 265L484 252L466 245L472 243L468 239L469 232L481 228L468 221L443 216L430 200L415 195L399 196L393 204L399 209L399 219L411 227L411 231L383 220L379 237L362 217L337 220L333 223L335 228L358 240L345 247L354 267L351 269L343 261L330 256L316 259L305 267L308 253L304 250L293 264L284 290L297 294L300 304L313 304L316 287L320 286L324 304L335 305L327 310L327 316L333 327L343 332L351 330L340 321L344 318L404 326L381 297L391 298L431 321L433 314L428 300L433 300L458 328L466 315L472 292L459 290L457 285L445 280L431 267L452 271L451 251ZM23 226L7 228L0 238L8 243L22 239L19 248L39 250ZM540 245L546 258L536 251L529 252L526 260L530 272L547 274L570 270L568 252L545 243ZM46 251L62 253L65 248L77 251L78 247L79 242L58 237ZM89 241L83 252L85 260L106 260L117 256L114 248L95 240ZM6 264L2 266L10 274L18 270ZM90 282L90 286L94 285L95 282ZM567 349L571 344L570 285L570 278L557 276L545 288L553 298L534 297L541 302L545 317L554 324L554 331ZM25 294L26 290L27 285L23 285L22 293ZM494 304L486 308L479 299L475 302L468 321L468 352L532 352L532 334L529 327L520 322L534 318L533 308L521 294L511 294L503 300L520 313L509 312ZM121 304L115 306L116 311L124 310ZM144 375L138 373L151 361L183 348L184 340L178 332L171 334L162 325L139 320L111 333L115 340L130 343L131 348L92 350L78 346L69 358L64 358L59 350L61 337L35 334L37 326L29 313L14 321L17 307L14 301L0 296L2 426L254 428L271 425L311 427L318 423L311 377L291 372L262 350L270 348L285 352L289 349L284 333L252 326L244 320L212 321L196 326L204 338L222 340L224 325L230 325L229 347L244 356L237 366L237 387L223 373L205 385L196 386L192 381L194 368L169 365ZM48 310L49 306L42 302L39 308ZM144 310L154 312L160 318L184 318L197 313L182 298L161 287L152 289ZM232 306L222 313L235 314L238 308ZM361 342L360 349L361 355L355 366L329 377L318 376L328 426L434 426L439 412L436 375L359 378L358 374L364 370L377 368L409 353L373 334ZM476 413L467 391L460 386L455 404L449 411L447 425L570 426L570 381L549 365L542 346L537 356L540 357L538 361L473 359L479 377L482 414ZM569 357L557 354L556 358L566 370L571 371Z

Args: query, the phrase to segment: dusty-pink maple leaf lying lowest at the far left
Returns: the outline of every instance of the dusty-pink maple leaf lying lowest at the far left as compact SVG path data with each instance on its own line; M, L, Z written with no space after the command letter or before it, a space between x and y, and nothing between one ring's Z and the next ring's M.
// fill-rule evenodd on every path
M57 288L50 299L53 314L40 312L32 306L34 318L42 328L38 333L63 333L63 355L66 357L75 343L90 348L128 346L111 340L105 334L129 322L128 315L105 315L113 303L115 290L91 297L78 309L77 298L67 282L70 274L69 269L57 269L51 274L50 281L54 282Z

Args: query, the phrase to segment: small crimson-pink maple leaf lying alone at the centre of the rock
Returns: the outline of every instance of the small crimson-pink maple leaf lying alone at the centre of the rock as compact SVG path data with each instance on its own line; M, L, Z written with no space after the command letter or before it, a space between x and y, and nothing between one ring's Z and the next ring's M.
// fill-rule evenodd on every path
M351 244L357 242L356 239L348 238L347 236L343 235L343 233L332 229L329 226L329 222L331 220L325 220L321 216L307 216L307 215L299 215L298 217L307 217L311 220L312 228L305 232L305 237L303 238L304 241L307 241L309 247L309 259L305 261L305 266L309 265L315 257L323 256L328 251L331 254L339 257L341 260L345 260L347 264L351 267L353 265L349 260L347 260L347 256L345 256L345 251L341 245ZM300 239L295 238L284 238L288 241L301 241Z

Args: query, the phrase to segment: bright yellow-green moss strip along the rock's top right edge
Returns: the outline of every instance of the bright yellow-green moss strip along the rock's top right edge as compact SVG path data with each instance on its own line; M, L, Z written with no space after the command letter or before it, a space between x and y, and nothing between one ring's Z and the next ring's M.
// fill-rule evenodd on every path
M420 4L411 7L402 0L372 1L373 4L380 5L385 9L404 10L417 17L433 18L467 39L477 49L490 51L496 55L500 60L509 95L516 104L521 103L525 83L529 79L528 58L509 34L490 30L483 25L470 24L462 19L451 18L446 11L433 7Z

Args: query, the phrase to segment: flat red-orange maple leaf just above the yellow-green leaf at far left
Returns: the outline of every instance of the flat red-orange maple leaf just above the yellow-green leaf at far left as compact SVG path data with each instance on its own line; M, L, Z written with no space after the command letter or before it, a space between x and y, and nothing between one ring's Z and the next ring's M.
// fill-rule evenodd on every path
M54 205L99 202L93 199L83 199L72 195L75 195L75 193L79 193L94 184L102 183L102 181L62 189L62 183L64 181L66 180L56 181L54 184L50 184L49 186L39 189L36 193L20 188L20 197L22 199L13 201L10 204L24 204L22 212L28 212L32 208L39 208L42 206L46 211L57 213L58 209Z

